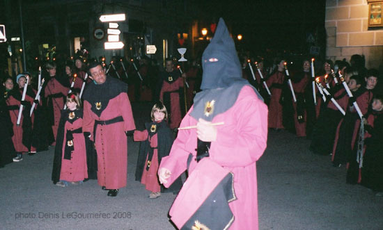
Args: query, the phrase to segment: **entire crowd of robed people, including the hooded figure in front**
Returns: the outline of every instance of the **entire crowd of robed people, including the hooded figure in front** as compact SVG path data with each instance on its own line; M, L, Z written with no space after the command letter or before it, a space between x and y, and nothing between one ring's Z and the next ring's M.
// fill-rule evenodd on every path
M202 56L203 72L196 61L185 65L166 59L159 72L147 57L114 57L109 65L104 58L86 65L77 57L60 66L47 62L39 76L7 76L0 104L0 167L54 146L56 186L97 179L115 197L126 186L126 137L133 135L141 142L136 180L151 199L179 192L185 170L191 178L194 170L206 167L228 170L224 176L229 171L240 175L230 188L246 185L248 190L237 202L227 201L233 213L226 224L234 215L234 226L254 226L258 210L247 201L256 197L255 162L266 147L267 128L286 129L310 139L314 154L332 155L334 167L345 165L347 183L383 195L380 72L366 69L359 55L350 63L303 58L298 65L282 57L238 59L226 26L221 27ZM158 101L143 131L136 130L132 101ZM243 156L235 160L233 152Z

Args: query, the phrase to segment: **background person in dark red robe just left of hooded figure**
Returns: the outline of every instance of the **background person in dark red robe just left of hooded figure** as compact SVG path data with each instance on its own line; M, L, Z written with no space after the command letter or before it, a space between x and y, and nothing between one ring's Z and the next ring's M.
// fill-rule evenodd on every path
M184 79L178 69L174 68L173 60L165 60L165 71L161 72L161 91L159 92L159 100L169 110L169 127L175 129L180 126L183 115L185 114L184 102Z

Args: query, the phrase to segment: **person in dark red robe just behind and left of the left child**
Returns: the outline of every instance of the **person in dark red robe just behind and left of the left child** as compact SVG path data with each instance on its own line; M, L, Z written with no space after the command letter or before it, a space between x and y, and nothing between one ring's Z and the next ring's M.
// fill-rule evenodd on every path
M56 135L58 122L61 117L61 110L64 108L65 97L68 95L69 81L64 76L56 76L56 63L47 63L47 72L49 73L49 81L45 85L45 98L48 106L48 122L52 125L54 142L51 145L56 145Z

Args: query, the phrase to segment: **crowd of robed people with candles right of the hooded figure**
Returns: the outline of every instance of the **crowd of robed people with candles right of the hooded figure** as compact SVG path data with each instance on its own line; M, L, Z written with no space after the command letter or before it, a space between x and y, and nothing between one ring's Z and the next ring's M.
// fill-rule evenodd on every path
M269 106L269 129L308 138L313 154L331 155L334 167L345 167L347 183L383 195L382 73L366 69L358 54L350 62L242 60L244 77Z

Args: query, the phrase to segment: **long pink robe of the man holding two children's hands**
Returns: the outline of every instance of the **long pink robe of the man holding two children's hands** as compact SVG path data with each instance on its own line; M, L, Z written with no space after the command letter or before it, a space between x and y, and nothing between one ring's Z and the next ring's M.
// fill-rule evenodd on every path
M100 92L102 93L102 92ZM93 137L95 120L111 120L123 117L123 122L108 125L97 125ZM136 129L132 107L125 92L109 100L100 117L91 110L91 104L84 101L83 131L91 133L97 150L97 181L107 189L118 189L126 186L127 179L127 138L125 131Z

